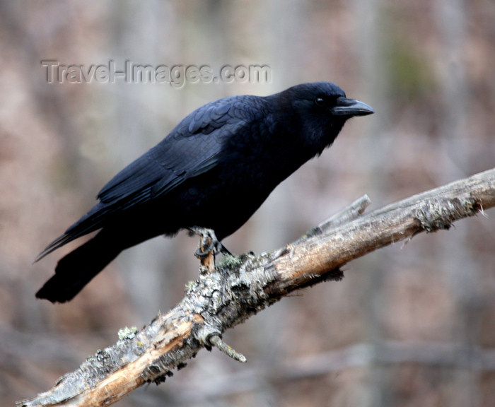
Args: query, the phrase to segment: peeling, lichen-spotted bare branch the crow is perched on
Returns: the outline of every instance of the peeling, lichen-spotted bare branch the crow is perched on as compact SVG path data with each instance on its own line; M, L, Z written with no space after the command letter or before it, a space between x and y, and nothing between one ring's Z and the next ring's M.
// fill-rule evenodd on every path
M216 268L202 259L197 281L182 301L141 331L125 331L55 386L17 406L108 406L147 382L160 383L201 348L216 346L226 329L293 290L342 278L339 268L375 249L419 232L448 229L461 218L495 206L495 169L385 206L363 216L367 196L300 240L259 256L224 256ZM213 256L213 254L211 254Z

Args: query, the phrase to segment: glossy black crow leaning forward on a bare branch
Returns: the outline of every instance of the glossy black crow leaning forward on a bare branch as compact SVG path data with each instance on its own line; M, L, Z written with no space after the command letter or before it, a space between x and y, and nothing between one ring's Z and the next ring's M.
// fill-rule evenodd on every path
M37 256L100 230L59 260L36 297L71 300L122 250L158 235L201 227L222 240L280 182L330 146L347 119L372 113L327 82L199 107L111 179L98 204Z

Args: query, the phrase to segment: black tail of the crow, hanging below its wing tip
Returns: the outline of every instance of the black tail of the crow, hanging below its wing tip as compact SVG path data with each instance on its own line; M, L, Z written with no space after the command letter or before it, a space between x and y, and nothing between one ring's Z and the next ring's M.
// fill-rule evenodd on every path
M122 251L122 247L105 236L105 230L82 246L62 257L55 275L36 293L51 302L72 300L91 279Z

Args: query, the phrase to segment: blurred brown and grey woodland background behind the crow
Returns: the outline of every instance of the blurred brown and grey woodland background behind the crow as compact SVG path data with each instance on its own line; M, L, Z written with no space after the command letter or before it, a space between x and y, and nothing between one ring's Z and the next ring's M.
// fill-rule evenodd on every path
M49 81L63 66L268 66L267 81ZM35 299L50 241L185 115L228 95L333 81L375 109L224 241L262 252L363 194L373 210L494 167L493 0L0 1L0 404L52 387L166 312L197 276L197 239L129 249L75 300ZM58 68L56 69L58 73ZM73 72L74 73L74 72ZM74 79L73 76L71 76ZM233 205L235 211L235 204ZM493 406L495 212L353 261L228 331L118 406Z

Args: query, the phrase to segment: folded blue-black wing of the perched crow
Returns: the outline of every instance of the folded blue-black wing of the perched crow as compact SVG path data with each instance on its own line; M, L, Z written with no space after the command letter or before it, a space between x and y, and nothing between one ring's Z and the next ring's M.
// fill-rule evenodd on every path
M102 228L109 217L168 194L186 179L214 168L225 141L249 125L256 116L253 112L262 114L255 108L257 100L251 96L224 98L185 117L160 143L113 177L98 193L100 202L50 243L36 261Z

